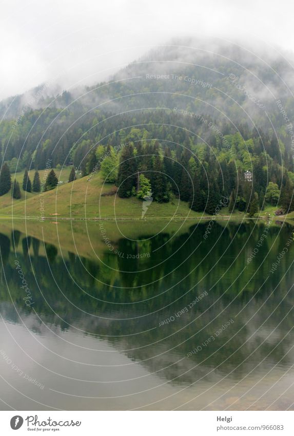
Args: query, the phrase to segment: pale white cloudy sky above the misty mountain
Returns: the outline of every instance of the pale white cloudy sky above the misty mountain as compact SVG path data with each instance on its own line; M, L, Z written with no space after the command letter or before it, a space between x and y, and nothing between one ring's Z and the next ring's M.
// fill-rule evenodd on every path
M294 48L292 0L2 0L0 99L42 82L93 84L182 35Z

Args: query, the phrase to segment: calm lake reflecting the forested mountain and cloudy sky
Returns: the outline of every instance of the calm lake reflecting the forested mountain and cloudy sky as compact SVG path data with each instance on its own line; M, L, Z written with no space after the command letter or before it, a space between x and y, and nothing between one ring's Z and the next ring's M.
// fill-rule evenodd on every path
M294 410L291 223L1 221L3 410Z

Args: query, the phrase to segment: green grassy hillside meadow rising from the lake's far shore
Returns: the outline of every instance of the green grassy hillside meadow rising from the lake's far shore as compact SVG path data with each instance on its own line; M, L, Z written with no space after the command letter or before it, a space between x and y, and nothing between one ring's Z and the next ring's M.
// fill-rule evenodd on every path
M27 193L22 189L22 198L11 198L11 192L0 197L0 215L13 217L46 218L102 218L102 219L140 219L142 217L143 201L132 197L119 198L113 184L104 184L101 175L95 174L91 180L83 177L72 183L66 183L69 168L56 170L57 177L63 184L52 191ZM45 170L40 171L42 181ZM32 181L34 172L30 172ZM22 184L23 173L16 175L16 180ZM42 212L41 209L44 209ZM197 218L203 214L190 211L188 204L178 199L169 203L159 204L153 201L147 209L145 219L154 218Z

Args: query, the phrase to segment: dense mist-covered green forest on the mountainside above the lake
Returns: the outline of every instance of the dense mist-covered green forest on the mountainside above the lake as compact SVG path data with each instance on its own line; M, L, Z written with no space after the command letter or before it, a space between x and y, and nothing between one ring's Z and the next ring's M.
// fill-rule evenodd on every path
M2 162L10 173L48 160L83 177L101 171L120 197L180 198L209 214L221 198L251 216L265 202L294 210L294 105L279 79L290 67L282 56L266 66L240 47L208 55L187 44L153 50L109 83L2 102Z

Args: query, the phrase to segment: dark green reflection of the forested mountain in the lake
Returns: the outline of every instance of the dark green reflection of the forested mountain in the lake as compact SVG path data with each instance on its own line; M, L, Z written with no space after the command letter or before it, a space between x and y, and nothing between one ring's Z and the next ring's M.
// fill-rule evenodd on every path
M102 245L92 257L15 230L10 237L0 234L5 267L1 282L8 284L8 289L1 288L2 314L7 322L24 323L44 338L54 326L53 330L71 332L75 346L83 346L85 337L99 341L99 349L105 344L118 352L101 357L108 369L113 367L111 377L119 378L115 365L121 365L124 355L174 389L210 386L224 379L226 389L232 389L247 378L251 386L251 372L262 378L268 370L286 371L294 363L289 352L293 338L288 334L292 329L292 247L275 274L269 273L292 227L287 223L271 226L258 254L248 262L265 225L215 221L207 240L205 224L156 236L142 229L137 240L120 237L115 250ZM24 305L14 250L29 283L31 308ZM230 319L233 322L227 325ZM75 361L93 363L87 349L82 356L79 352L73 356ZM94 358L94 362L100 361ZM125 376L131 376L129 371ZM58 367L58 372L64 369ZM84 368L73 373L75 378L87 377ZM112 388L114 394L118 392ZM128 389L136 390L136 385L126 387L124 395ZM166 394L163 388L159 392ZM180 398L179 405L184 402ZM213 398L202 396L203 407L209 408ZM143 394L141 400L144 407ZM110 401L106 408L113 404ZM221 408L218 403L214 407Z

